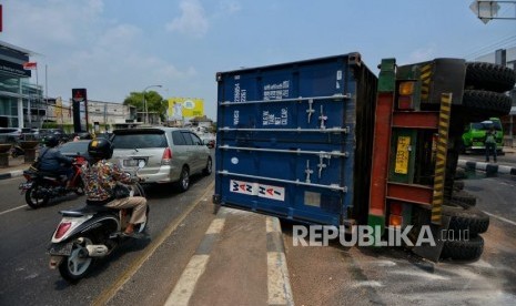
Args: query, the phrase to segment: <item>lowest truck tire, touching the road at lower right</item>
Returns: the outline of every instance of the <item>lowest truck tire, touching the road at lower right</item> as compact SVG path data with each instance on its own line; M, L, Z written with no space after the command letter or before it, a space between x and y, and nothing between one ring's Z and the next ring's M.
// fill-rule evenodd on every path
M476 261L484 252L484 238L482 236L472 237L468 241L453 239L446 241L441 253L443 259Z

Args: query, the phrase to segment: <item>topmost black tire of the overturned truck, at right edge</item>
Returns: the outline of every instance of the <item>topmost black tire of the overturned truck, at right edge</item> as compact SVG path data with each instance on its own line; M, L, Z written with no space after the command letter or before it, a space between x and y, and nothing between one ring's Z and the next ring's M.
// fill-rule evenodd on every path
M485 62L466 63L466 89L506 92L515 82L516 74L510 68Z

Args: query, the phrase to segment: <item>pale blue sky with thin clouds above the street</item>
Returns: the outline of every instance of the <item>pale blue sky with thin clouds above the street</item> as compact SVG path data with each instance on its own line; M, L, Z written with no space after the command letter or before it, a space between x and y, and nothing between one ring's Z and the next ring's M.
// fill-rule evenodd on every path
M50 98L85 88L89 100L122 103L160 84L149 90L203 99L215 120L216 72L360 52L377 74L383 58L474 60L515 47L516 20L485 24L472 2L0 0L0 40L33 52Z

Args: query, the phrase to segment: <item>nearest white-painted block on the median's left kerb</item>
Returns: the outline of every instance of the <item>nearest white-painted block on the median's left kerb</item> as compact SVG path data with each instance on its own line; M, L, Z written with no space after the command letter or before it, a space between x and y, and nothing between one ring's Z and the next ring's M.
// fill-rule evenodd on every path
M199 278L206 269L210 255L193 255L181 278L165 302L165 306L188 306Z

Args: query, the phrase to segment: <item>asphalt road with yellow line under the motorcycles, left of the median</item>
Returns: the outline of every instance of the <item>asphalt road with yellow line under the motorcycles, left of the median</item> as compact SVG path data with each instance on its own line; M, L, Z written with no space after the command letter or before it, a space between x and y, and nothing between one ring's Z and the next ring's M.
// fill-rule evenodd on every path
M32 210L19 194L21 182L0 181L0 305L163 305L214 217L213 175L192 177L186 193L148 187L151 239L123 245L70 285L48 268L45 249L59 211L82 206L84 197Z

